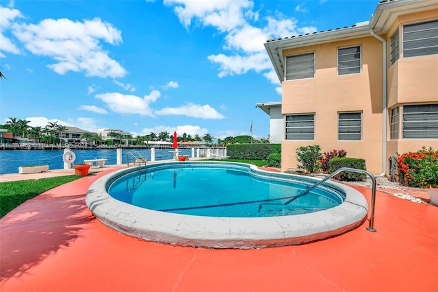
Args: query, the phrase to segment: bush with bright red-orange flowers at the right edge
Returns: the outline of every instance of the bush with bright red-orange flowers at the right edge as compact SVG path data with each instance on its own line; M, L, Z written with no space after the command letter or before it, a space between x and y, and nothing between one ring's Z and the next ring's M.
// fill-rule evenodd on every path
M438 150L432 147L414 153L405 153L397 158L400 184L416 188L436 187L438 184Z

